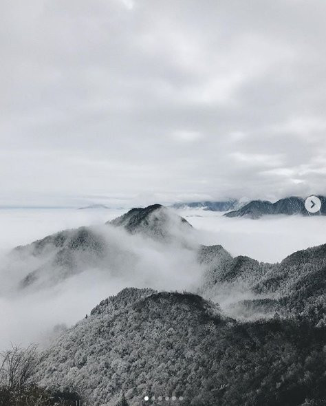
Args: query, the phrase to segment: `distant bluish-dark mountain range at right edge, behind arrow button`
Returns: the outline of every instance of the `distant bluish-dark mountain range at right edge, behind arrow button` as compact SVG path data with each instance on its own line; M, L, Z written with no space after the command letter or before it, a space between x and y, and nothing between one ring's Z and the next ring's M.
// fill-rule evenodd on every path
M286 197L275 203L268 200L253 200L238 210L230 211L224 214L226 217L250 217L258 219L262 215L326 215L326 197L318 196L322 202L321 209L318 213L308 213L305 209L305 199L301 197Z

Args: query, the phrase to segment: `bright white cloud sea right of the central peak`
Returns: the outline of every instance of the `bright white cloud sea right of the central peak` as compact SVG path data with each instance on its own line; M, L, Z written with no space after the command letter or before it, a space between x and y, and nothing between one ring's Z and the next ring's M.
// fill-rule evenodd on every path
M228 218L224 213L182 210L202 244L221 244L233 255L275 263L297 250L326 243L326 216L265 215L259 220Z

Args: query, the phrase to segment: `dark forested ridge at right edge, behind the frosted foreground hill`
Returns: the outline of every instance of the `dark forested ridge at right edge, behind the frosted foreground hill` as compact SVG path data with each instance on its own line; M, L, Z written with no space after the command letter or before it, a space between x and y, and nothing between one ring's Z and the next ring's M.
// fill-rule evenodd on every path
M326 325L326 244L300 250L279 264L233 258L220 246L203 247L198 260L205 264L198 292L233 317L259 319L278 312Z

